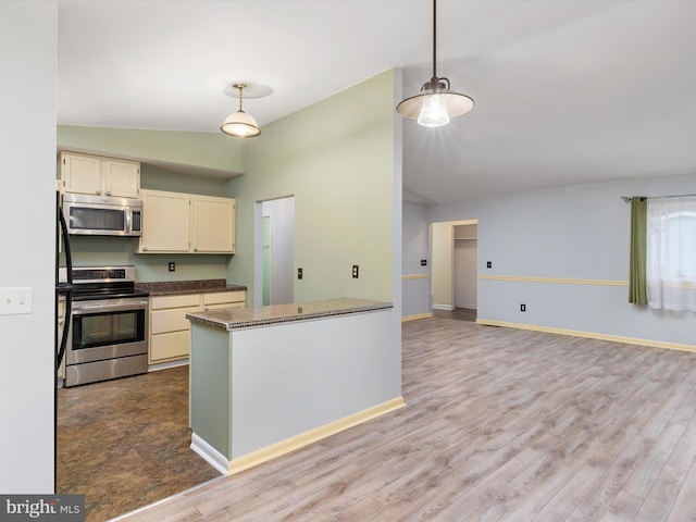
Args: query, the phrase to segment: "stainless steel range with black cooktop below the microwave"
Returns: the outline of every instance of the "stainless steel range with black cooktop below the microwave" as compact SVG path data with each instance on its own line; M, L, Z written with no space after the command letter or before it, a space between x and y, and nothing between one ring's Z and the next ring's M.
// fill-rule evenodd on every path
M133 266L73 268L65 386L148 371L148 294ZM67 269L59 270L66 284Z

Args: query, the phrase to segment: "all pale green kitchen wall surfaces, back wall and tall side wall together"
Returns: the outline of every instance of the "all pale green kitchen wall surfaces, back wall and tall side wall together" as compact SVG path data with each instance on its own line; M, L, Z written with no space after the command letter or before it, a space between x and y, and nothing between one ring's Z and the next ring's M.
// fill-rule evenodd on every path
M75 264L133 264L140 282L226 278L247 286L249 306L260 306L253 294L254 277L261 286L261 269L254 273L256 204L295 196L294 256L304 272L295 281L295 301L395 301L394 237L400 225L395 227L394 91L395 72L387 71L263 126L250 140L60 125L58 150L140 161L142 188L237 199L235 256L139 254L134 238L73 236ZM170 261L175 272L169 272ZM353 264L360 266L357 279Z

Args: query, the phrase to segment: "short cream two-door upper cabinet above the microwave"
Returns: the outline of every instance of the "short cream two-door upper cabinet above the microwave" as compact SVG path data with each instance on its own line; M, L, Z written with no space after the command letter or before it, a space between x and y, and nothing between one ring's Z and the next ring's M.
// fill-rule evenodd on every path
M137 198L140 164L97 156L61 152L61 190L119 198Z

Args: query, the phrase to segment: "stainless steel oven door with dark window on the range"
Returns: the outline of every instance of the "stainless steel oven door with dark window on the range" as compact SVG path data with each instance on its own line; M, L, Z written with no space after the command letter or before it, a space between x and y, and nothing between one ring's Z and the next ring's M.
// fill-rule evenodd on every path
M73 303L65 364L148 352L148 300L103 299Z

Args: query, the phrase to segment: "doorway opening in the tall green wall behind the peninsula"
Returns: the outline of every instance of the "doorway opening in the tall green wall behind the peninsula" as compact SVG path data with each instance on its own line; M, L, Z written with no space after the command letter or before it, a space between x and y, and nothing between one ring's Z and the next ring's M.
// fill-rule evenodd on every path
M293 302L295 196L258 201L256 223L253 302L261 306Z

